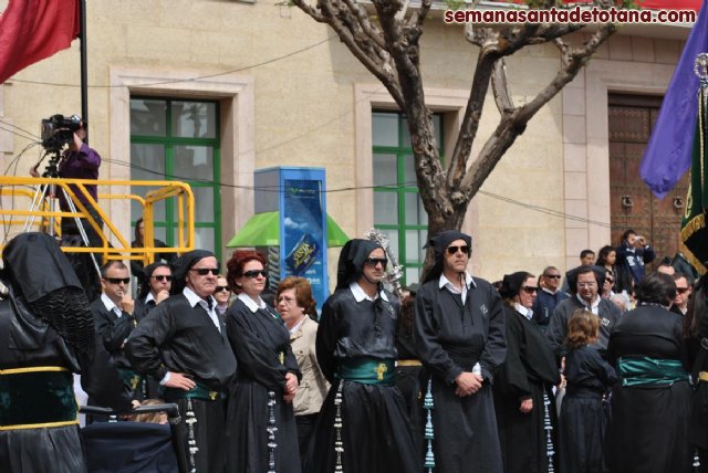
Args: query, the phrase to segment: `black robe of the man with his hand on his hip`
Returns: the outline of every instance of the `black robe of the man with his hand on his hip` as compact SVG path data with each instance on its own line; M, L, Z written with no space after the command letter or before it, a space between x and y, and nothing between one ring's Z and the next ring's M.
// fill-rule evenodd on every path
M136 371L162 380L167 371L186 374L215 391L225 391L236 372L236 358L226 337L214 325L207 312L199 305L191 307L184 294L168 297L131 333L125 343L125 355ZM186 419L187 400L177 402ZM195 462L199 472L222 472L226 464L226 400L206 401L192 399L197 419L195 435L197 452ZM187 438L183 439L187 444Z

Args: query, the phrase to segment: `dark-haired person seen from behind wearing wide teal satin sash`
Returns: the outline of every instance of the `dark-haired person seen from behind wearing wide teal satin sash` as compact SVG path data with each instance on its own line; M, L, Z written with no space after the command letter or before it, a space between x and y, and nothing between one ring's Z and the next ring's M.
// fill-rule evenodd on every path
M607 461L612 472L689 472L690 385L681 317L668 311L674 278L652 273L636 288L637 308L610 335L607 361L621 382L612 391Z

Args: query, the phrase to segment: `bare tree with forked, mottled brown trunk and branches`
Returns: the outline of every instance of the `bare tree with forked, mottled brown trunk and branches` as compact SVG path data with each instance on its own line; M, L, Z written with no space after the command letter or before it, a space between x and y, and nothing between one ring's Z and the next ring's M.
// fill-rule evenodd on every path
M563 36L581 30L582 24L479 27L467 23L465 36L479 48L479 56L457 144L444 168L438 156L431 113L425 102L419 62L419 41L433 1L421 0L419 7L410 8L407 0L372 0L368 4L371 12L357 0L292 0L292 3L315 21L329 24L406 114L430 235L461 227L470 200L507 149L524 132L529 120L577 75L600 44L615 31L614 24L604 23L583 44L572 45ZM610 7L608 0L597 3L603 8ZM537 9L548 10L555 4L555 0L534 1ZM472 4L470 8L476 7ZM559 49L561 66L535 97L522 105L514 104L508 91L504 57L522 48L543 43ZM470 164L490 85L501 117L479 156ZM428 252L424 272L430 260Z

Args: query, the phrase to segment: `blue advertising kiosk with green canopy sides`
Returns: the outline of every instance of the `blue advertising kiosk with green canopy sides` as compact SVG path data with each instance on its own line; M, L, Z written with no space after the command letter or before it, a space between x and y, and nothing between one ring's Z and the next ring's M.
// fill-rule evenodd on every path
M324 169L259 169L254 187L256 214L227 246L254 246L267 253L270 291L287 276L308 278L320 311L330 293L327 248L347 240L326 213Z

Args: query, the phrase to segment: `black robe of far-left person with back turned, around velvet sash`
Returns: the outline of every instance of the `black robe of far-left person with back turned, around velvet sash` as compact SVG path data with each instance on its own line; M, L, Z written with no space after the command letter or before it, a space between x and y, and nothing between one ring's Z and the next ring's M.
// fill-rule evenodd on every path
M95 354L80 354L24 302L0 301L0 369L32 366L64 367L81 374L81 385L104 407L127 411L128 392L98 337ZM28 392L31 400L32 393ZM86 471L79 424L0 431L0 465L13 473L82 473Z

